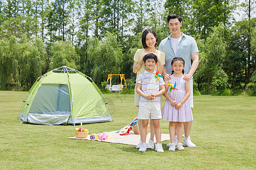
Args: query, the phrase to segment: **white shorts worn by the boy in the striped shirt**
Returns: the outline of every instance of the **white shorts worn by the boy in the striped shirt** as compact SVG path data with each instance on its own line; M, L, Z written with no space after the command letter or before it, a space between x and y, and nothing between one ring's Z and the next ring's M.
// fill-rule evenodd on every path
M151 102L151 101L140 101L139 102L139 113L138 119L147 120L151 119L161 119L161 105L160 102Z

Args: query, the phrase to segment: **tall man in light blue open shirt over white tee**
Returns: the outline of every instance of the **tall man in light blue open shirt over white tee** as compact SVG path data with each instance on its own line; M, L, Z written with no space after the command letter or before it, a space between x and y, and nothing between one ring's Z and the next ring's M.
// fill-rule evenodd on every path
M185 60L185 74L184 80L189 80L191 84L191 96L189 97L189 103L193 108L193 74L195 73L199 64L199 49L193 37L185 35L180 31L182 25L182 18L177 14L171 14L167 17L168 27L170 28L171 35L166 39L162 40L159 44L159 50L166 54L166 63L164 65L167 75L165 78L168 79L168 74L171 73L171 61L174 57L182 57ZM191 65L191 59L193 61ZM190 131L192 121L184 122L184 146L196 147L191 142ZM175 135L175 142L177 141ZM168 147L169 144L167 144Z

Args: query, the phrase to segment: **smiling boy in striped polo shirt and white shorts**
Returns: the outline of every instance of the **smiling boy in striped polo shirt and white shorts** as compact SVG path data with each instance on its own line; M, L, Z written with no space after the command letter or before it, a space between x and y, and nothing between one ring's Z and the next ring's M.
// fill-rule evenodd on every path
M161 142L161 129L159 120L161 116L160 107L160 96L164 94L164 81L163 78L159 78L156 81L154 67L158 59L155 54L149 53L143 57L143 65L146 66L144 73L140 74L137 79L136 91L141 96L139 100L139 113L138 119L141 120L141 147L139 152L144 152L147 150L146 136L147 136L147 125L148 117L151 117L152 125L155 129L156 145L155 151L163 152L163 147ZM159 91L160 86L160 91Z

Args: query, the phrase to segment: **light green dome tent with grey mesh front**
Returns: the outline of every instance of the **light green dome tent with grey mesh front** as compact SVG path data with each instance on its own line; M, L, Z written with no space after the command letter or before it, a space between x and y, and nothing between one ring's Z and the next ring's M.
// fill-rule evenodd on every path
M109 105L93 80L67 66L40 76L23 103L19 119L26 123L75 125L113 121Z

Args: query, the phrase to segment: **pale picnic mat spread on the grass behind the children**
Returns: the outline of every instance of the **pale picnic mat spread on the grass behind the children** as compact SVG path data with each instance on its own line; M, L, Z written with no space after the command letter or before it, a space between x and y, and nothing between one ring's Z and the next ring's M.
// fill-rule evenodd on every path
M122 143L126 145L137 145L140 139L140 136L137 134L134 134L133 131L130 131L129 134L127 135L119 135L116 133L117 130L115 131L109 131L105 132L105 134L108 135L108 139L105 141L103 140L98 140L98 139L90 139L90 134L88 134L87 138L76 138L76 137L69 137L68 139L84 139L84 140L89 140L89 141L102 141L102 142L110 142L110 143ZM150 133L147 134L146 142L148 142L150 139ZM169 134L161 134L161 142L162 141L167 141L170 140L170 135ZM156 142L154 138L154 143Z

